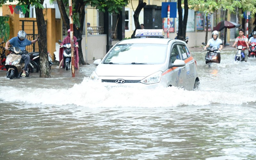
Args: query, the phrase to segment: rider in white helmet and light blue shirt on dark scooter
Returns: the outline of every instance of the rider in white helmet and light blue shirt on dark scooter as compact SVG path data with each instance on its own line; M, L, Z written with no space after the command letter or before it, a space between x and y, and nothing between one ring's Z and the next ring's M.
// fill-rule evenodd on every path
M207 42L206 46L204 47L204 50L209 47L209 46L214 46L216 48L219 49L219 51L215 51L218 52L218 61L220 63L220 51L222 50L223 45L221 44L222 41L220 38L218 38L219 32L214 30L212 31L212 38L209 39L209 41Z

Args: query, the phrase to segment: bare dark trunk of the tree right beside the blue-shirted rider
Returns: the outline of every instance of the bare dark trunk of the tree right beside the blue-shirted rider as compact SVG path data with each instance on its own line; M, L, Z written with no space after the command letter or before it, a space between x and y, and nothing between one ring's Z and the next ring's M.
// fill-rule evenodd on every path
M44 3L44 0L41 1L41 4ZM40 77L41 78L50 78L50 65L47 54L47 36L46 36L46 24L44 20L43 9L36 8L36 22L38 27L38 47L39 47L39 57L40 57Z

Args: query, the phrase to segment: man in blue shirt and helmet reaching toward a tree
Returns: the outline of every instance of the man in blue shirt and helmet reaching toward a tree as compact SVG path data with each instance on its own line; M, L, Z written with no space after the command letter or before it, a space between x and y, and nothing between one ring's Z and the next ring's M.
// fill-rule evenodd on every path
M26 32L23 30L20 30L18 32L17 37L13 37L12 39L10 39L9 41L6 42L5 49L8 50L9 44L12 44L13 47L19 47L21 51L24 51L24 50L26 50L27 45L34 44L36 41L38 41L38 36L33 41L29 41L26 38L26 36L27 36ZM21 76L25 77L26 70L28 69L30 57L29 57L28 53L25 53L25 52L21 54L21 57L25 62L25 67L23 68L23 72L22 72Z

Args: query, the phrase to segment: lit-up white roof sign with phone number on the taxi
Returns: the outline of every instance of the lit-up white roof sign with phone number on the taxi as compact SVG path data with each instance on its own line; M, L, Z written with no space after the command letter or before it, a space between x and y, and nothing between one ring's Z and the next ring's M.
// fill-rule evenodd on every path
M164 37L164 29L137 29L135 37Z

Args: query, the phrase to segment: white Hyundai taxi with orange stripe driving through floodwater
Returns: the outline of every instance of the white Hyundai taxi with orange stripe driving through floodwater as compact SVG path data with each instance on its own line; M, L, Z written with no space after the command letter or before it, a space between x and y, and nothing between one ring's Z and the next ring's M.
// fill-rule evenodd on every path
M95 60L90 79L115 86L198 87L196 60L184 41L164 38L163 29L137 29L135 36L115 44L103 60Z

